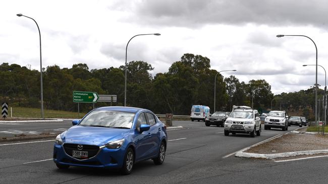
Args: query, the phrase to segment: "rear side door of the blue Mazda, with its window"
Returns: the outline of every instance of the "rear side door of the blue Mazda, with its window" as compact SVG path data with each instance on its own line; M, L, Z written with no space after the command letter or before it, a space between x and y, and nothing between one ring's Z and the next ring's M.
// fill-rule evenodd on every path
M156 122L156 118L153 114L146 112L145 113L147 122L150 125L150 141L151 141L151 149L149 150L149 156L157 155L160 141L160 124Z

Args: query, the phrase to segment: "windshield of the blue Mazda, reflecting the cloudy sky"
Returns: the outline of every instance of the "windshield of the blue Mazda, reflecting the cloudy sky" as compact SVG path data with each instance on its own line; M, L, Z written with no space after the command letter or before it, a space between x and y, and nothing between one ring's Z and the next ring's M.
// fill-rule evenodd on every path
M135 113L123 111L92 111L79 125L90 127L132 128Z

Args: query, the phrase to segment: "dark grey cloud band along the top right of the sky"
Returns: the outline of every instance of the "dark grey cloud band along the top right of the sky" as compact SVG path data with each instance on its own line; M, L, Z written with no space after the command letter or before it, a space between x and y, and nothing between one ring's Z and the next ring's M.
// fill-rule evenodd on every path
M145 0L141 3L116 5L110 9L122 10L125 7L125 11L134 12L133 17L126 21L133 19L140 24L179 27L209 23L328 26L328 2L324 0Z

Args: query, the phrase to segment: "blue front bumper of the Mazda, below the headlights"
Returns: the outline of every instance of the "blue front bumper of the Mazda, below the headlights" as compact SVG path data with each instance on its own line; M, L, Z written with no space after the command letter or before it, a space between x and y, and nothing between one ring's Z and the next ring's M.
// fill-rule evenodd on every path
M62 165L99 167L99 168L121 168L124 160L124 149L107 149L99 147L97 154L87 159L77 159L65 152L63 145L54 144L53 161Z

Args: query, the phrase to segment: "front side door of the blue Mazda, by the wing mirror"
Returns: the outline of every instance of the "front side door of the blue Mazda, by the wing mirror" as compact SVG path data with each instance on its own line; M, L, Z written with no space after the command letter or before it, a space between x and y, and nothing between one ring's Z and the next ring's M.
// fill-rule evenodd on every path
M139 114L135 129L136 160L142 160L149 157L150 150L153 147L150 133L151 130L140 132L139 127L141 124L148 124L145 113Z

